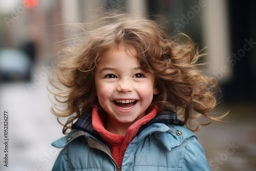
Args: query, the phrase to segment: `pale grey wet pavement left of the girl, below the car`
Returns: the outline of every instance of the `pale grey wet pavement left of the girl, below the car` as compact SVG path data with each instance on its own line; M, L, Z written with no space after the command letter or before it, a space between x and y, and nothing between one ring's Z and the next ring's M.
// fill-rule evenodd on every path
M1 143L0 170L51 170L59 150L50 144L62 136L62 126L50 112L46 83L32 93L26 83L4 83L0 85L0 94L2 141L4 111L9 114L9 162L8 167L3 166Z

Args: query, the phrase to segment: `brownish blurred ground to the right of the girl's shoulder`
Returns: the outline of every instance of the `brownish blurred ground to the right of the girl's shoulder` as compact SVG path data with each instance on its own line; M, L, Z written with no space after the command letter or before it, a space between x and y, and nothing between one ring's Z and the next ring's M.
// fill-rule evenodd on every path
M197 132L211 170L256 170L256 102L221 104L225 124L211 123Z

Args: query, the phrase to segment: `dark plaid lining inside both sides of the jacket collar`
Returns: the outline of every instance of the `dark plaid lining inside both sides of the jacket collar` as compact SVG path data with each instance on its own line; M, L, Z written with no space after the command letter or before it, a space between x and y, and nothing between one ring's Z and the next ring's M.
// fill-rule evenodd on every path
M145 127L152 125L153 123L164 123L166 125L184 125L184 122L177 118L177 114L173 111L163 111L152 119L150 122L141 126L137 135L141 133ZM92 125L92 110L89 110L86 114L84 114L81 118L79 118L73 125L72 129L82 130L84 132L88 132L94 135L97 138L100 138L99 134L93 129Z

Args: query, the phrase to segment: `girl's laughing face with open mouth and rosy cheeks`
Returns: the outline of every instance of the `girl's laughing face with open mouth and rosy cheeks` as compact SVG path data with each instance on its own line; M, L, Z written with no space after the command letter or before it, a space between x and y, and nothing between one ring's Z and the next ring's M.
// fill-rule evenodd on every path
M134 48L113 47L96 68L96 95L111 124L133 124L142 118L157 93L154 75L144 72L134 55Z

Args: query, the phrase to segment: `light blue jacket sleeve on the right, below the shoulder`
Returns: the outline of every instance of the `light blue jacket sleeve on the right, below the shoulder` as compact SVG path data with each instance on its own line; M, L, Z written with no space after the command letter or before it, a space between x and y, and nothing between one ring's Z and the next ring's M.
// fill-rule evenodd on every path
M210 170L204 149L195 136L187 139L182 170Z

